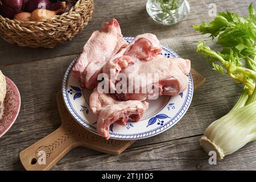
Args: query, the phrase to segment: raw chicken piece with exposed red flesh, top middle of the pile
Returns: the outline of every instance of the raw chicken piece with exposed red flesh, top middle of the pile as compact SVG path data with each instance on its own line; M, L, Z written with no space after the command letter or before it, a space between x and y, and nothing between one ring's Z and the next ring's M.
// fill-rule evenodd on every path
M109 81L110 89L115 90L115 81L122 69L135 64L137 61L149 61L159 55L161 51L162 46L155 35L142 34L136 36L129 46L114 55L103 68L102 72L108 75L105 81Z

